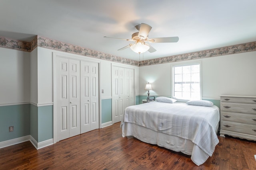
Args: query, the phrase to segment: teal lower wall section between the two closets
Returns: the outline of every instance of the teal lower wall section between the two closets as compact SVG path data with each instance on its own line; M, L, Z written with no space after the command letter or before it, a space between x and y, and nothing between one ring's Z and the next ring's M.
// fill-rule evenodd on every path
M102 123L112 121L112 99L101 100L101 113Z

